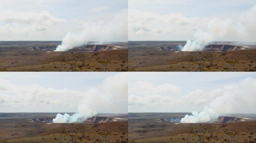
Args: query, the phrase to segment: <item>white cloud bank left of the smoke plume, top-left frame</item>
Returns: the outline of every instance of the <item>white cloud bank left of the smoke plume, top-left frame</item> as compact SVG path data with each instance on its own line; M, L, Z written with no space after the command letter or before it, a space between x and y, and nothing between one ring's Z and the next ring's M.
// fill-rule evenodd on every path
M32 37L36 37L37 34L46 34L42 32L49 32L47 31L48 28L65 23L66 20L55 18L46 10L41 12L2 10L0 11L0 22L5 23L5 25L0 26L1 38L20 37L19 40L24 40L23 38L31 34L33 34ZM55 37L57 36L59 35L55 35Z

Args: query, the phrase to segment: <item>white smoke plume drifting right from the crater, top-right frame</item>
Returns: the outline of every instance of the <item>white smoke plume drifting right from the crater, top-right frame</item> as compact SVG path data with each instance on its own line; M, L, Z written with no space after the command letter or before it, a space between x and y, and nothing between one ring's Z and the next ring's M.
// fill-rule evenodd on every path
M206 30L199 29L194 41L188 40L182 51L203 51L213 41L255 42L256 5L236 18L211 19Z

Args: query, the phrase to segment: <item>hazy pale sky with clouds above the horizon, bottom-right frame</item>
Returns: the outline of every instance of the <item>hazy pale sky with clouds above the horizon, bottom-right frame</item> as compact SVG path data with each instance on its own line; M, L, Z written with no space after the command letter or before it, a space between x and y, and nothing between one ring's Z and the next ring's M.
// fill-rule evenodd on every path
M256 113L255 73L135 72L128 84L128 112L199 112L211 105Z

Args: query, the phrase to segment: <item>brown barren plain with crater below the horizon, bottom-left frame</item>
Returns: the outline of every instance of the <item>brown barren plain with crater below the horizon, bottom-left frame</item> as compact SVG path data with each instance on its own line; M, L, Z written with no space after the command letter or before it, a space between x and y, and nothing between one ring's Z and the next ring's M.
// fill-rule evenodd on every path
M57 113L0 113L0 143L119 143L127 114L97 114L84 123L52 123ZM115 120L113 120L115 119Z

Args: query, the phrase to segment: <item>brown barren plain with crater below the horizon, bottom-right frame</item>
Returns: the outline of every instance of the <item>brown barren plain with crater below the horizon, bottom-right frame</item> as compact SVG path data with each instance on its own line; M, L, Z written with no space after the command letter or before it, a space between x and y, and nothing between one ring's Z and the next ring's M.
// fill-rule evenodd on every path
M128 113L129 143L240 143L256 140L256 114L229 114L214 123L179 123L189 113ZM254 134L251 134L254 133Z

